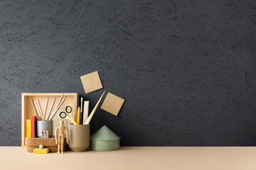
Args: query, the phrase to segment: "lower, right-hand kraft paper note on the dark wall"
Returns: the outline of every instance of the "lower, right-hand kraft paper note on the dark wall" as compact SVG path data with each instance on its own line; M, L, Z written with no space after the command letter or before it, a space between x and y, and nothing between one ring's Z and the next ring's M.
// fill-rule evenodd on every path
M102 103L101 109L112 113L113 115L117 115L122 108L123 103L124 99L119 98L118 96L115 96L109 92L107 93L105 101Z

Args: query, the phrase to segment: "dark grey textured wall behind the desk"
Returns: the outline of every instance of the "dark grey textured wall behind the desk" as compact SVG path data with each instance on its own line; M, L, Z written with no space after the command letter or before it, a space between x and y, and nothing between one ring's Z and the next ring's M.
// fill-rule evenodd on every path
M255 1L0 1L0 145L21 145L22 92L78 92L122 145L256 144ZM90 107L92 109L92 105Z

